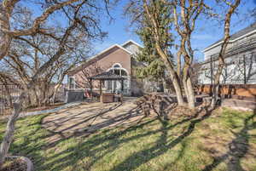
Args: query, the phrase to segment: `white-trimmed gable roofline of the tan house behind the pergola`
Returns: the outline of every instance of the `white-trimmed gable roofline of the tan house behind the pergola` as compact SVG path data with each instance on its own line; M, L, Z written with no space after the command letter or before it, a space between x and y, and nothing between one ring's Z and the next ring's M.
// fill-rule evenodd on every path
M85 67L92 65L92 64L95 63L96 61L102 60L102 58L104 58L105 56L107 56L108 54L110 54L111 52L113 52L114 50L116 50L116 49L118 49L118 48L124 50L127 54L132 55L132 53L131 53L128 49L124 48L124 46L125 46L126 44L128 44L128 43L134 43L134 44L136 44L137 46L140 46L138 43L135 43L135 42L132 41L132 40L127 41L126 43L124 43L124 44L121 45L121 46L120 46L119 44L117 44L117 43L116 43L116 44L113 44L111 47L105 48L105 49L102 50L102 52L100 52L99 54L96 54L96 55L90 57L88 60L84 61L84 64L81 64L80 66L75 67L72 71L69 71L69 72L68 72L68 75L73 75L73 74L77 73L78 71L83 70ZM109 52L110 52L110 53L109 53Z

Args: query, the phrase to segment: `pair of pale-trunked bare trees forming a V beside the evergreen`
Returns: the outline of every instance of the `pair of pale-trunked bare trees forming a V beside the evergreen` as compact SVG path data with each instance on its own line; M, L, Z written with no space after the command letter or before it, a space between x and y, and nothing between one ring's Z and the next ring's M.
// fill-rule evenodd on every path
M143 2L143 4L141 4ZM161 4L159 4L161 3ZM135 6L135 7L134 7ZM143 9L140 8L143 6ZM169 20L172 20L170 26L166 26L163 29L160 9L169 6ZM131 8L132 7L132 8ZM189 75L189 70L194 60L194 50L191 45L191 35L195 31L195 22L199 18L199 15L207 9L207 5L203 0L201 1L185 1L185 0L174 0L174 1L131 1L128 5L128 9L131 9L132 22L142 22L144 18L152 23L152 26L146 26L152 37L154 37L154 47L156 48L161 60L164 61L167 71L172 78L172 83L177 94L177 101L179 105L183 105L183 92L189 101L189 107L195 108L195 95L194 89ZM177 62L170 60L170 53L166 49L171 48L172 44L163 42L163 35L168 32L172 32L172 25L175 26L177 36L180 37L180 43L178 44ZM169 34L171 37L171 34ZM183 59L182 59L183 57ZM182 61L184 64L182 66ZM183 67L183 68L182 68ZM182 70L182 72L181 72Z

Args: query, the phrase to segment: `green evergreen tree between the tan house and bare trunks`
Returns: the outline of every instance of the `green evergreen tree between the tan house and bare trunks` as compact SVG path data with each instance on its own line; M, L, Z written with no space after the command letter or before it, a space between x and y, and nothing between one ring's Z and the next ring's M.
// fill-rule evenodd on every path
M170 32L172 26L170 7L165 6L160 1L152 1L150 10L152 14L156 14L158 18L161 36L160 46L166 50L167 54L170 56L170 60L172 60L171 48L173 39L172 33ZM158 10L158 12L154 13L154 10ZM149 78L150 80L159 81L165 76L166 66L155 48L151 27L152 24L148 22L147 15L143 14L137 35L143 42L144 48L141 48L140 53L137 54L137 61L143 62L145 66L137 67L136 73L139 78Z

